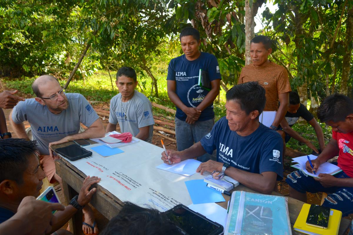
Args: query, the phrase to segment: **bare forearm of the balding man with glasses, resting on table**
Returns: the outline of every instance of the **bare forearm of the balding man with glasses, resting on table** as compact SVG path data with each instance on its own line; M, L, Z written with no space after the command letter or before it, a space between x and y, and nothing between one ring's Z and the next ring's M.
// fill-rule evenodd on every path
M85 130L82 133L75 134L75 135L69 135L66 136L65 138L62 138L59 141L51 142L49 143L49 154L51 157L53 157L53 150L50 148L50 146L55 145L55 144L62 144L66 143L72 140L78 140L78 139L89 139L89 138L97 138L97 137L104 137L104 127L101 122L101 119L98 118L87 130Z

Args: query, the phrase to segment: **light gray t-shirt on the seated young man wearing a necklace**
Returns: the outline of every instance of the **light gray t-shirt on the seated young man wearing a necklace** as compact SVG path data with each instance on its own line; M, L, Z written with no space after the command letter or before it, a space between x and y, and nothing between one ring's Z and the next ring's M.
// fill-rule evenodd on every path
M120 93L115 95L110 100L109 122L112 124L119 123L121 132L131 132L132 136L136 136L138 132L140 132L139 128L154 125L152 105L149 99L144 94L135 91L129 103L121 103L120 100ZM127 111L125 120L126 107ZM152 136L153 126L150 127L149 136L145 141L152 143Z

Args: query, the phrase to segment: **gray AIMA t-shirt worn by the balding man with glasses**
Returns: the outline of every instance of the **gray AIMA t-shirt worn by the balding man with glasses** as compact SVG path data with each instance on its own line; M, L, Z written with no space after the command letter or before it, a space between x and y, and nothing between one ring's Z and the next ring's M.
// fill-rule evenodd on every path
M78 93L66 93L68 108L54 114L35 99L20 101L13 108L12 120L16 124L28 121L32 128L33 139L37 140L41 155L49 155L50 142L61 140L68 135L77 134L80 123L90 127L99 117Z

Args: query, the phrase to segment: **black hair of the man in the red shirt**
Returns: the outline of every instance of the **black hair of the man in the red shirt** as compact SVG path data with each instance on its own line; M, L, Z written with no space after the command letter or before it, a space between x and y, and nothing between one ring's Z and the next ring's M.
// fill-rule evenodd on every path
M351 114L353 114L353 100L337 93L324 99L317 108L317 117L321 122L344 121Z

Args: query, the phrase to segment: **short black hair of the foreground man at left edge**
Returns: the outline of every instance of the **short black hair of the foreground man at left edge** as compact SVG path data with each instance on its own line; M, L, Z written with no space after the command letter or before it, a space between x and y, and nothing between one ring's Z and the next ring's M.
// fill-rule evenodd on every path
M29 156L36 154L37 142L8 138L0 140L0 182L14 180L23 183L23 173Z

